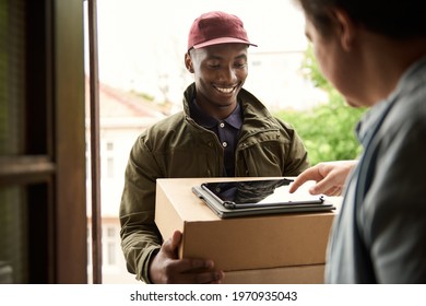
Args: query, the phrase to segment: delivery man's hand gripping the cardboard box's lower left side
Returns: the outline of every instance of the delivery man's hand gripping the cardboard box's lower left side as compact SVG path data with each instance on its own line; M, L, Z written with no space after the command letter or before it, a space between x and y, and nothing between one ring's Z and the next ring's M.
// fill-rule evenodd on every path
M224 273L214 270L212 260L178 258L181 238L182 234L176 231L151 260L149 272L151 281L158 284L221 283Z

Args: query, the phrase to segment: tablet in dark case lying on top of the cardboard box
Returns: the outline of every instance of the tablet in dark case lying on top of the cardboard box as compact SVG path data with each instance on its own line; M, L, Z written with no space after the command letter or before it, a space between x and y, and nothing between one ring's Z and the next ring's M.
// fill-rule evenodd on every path
M206 181L192 187L192 192L221 219L335 209L323 196L289 193L292 183L288 178Z

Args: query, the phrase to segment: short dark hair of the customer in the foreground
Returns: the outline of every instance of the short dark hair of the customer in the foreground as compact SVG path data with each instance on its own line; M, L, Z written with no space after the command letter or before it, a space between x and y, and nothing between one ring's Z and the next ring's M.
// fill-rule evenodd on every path
M331 9L344 10L353 22L392 38L426 37L426 0L294 0L316 28L327 36L335 19Z

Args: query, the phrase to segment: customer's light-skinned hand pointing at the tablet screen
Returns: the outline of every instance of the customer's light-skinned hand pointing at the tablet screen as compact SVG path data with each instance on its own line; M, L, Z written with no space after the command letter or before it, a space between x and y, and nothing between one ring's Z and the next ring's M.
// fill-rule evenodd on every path
M299 174L289 186L289 192L295 192L308 180L317 184L309 188L311 195L341 196L347 175L357 161L323 162Z

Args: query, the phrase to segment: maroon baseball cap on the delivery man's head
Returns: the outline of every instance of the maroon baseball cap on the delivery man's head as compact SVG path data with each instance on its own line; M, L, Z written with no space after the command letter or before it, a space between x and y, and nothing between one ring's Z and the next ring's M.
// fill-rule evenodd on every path
M204 13L193 21L188 36L188 50L229 43L242 43L257 47L249 42L239 17L213 11Z

